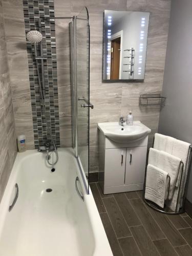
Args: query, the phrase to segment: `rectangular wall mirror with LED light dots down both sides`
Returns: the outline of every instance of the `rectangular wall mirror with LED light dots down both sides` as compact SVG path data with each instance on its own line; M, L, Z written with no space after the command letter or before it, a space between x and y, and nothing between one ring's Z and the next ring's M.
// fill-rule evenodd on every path
M103 81L143 81L148 12L104 11Z

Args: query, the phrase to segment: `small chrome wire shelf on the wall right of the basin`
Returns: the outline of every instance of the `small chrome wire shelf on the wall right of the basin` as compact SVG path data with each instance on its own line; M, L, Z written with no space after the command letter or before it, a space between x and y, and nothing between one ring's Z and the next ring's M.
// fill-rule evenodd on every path
M166 97L160 94L141 94L139 97L139 106L164 106Z

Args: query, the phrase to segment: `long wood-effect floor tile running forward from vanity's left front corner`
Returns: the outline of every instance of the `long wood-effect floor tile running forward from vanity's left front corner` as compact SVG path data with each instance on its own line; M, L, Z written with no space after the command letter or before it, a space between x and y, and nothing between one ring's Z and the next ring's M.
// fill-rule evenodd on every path
M123 218L115 198L103 198L102 200L112 222L117 238L131 236L131 232Z

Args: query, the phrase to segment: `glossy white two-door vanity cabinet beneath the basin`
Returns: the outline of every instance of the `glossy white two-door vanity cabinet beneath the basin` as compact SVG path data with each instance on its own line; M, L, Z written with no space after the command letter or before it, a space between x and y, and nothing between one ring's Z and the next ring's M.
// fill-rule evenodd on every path
M103 194L142 190L148 136L116 143L99 131L99 183Z

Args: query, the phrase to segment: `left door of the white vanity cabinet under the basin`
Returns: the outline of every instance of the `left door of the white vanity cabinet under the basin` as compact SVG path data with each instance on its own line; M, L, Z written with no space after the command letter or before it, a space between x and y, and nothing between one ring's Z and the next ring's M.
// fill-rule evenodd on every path
M124 185L126 148L105 150L104 186Z

